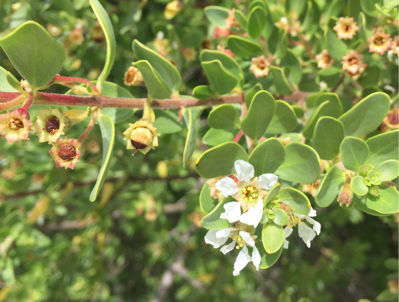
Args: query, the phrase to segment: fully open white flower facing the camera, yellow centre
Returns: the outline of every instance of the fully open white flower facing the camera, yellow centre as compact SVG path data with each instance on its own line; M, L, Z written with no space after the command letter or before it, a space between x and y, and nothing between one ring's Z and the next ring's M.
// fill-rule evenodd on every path
M221 213L220 218L227 219L229 223L241 221L257 227L263 214L263 199L267 190L277 183L277 176L266 173L254 178L254 167L242 159L235 161L234 167L238 184L230 177L224 177L217 181L215 186L221 191L221 195L232 196L237 201L226 203L223 206L225 212Z

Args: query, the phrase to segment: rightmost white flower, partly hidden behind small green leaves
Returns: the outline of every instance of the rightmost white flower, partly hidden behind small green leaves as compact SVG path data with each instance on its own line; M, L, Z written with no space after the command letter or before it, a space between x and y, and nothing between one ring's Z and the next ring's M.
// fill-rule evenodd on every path
M314 216L316 216L316 211L312 207L310 208L310 213L308 215L300 215L298 213L291 214L290 220L288 221L287 226L284 228L284 238L287 238L292 233L292 227L298 225L299 237L302 238L302 240L310 248L310 241L316 237L316 234L320 234L321 230L320 223L310 218ZM312 227L306 225L303 220L306 220L308 223L310 223ZM284 239L284 248L288 248L288 240L286 239Z

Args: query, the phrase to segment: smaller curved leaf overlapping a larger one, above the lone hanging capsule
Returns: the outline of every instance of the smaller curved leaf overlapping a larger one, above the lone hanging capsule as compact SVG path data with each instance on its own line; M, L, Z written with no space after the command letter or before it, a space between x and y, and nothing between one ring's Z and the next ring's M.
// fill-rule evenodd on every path
M164 79L160 74L151 66L146 60L141 60L132 63L136 66L143 75L143 79L148 89L149 99L167 99L170 97L171 92L166 85Z

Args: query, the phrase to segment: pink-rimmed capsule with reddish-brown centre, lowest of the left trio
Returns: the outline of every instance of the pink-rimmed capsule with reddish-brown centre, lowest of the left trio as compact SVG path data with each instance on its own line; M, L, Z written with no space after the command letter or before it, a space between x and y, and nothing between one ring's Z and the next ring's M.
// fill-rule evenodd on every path
M81 143L77 139L68 139L67 137L57 139L49 151L57 168L73 169L81 156L80 145Z

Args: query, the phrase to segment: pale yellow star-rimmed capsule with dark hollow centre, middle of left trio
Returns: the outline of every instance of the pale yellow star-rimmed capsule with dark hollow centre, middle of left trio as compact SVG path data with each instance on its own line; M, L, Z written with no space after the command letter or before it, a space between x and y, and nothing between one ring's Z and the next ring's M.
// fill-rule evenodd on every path
M37 132L40 143L51 143L57 141L60 135L64 135L70 126L71 121L68 117L62 115L58 109L50 108L40 110L32 129Z

